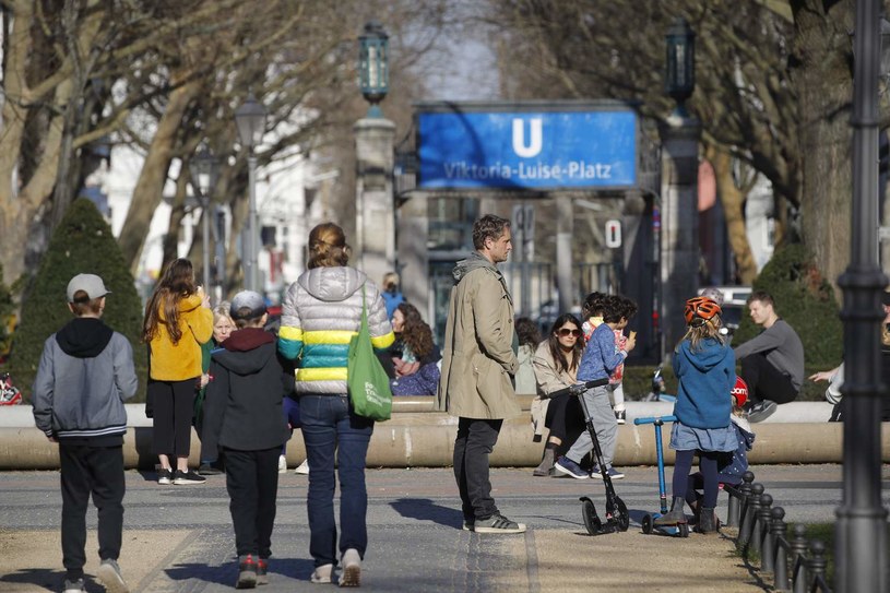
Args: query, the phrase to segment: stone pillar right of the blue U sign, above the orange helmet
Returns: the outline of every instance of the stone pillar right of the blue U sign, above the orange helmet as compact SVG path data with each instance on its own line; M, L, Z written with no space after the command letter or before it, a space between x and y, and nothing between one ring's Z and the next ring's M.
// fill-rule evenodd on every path
M672 115L661 128L661 284L663 353L686 332L683 307L699 287L698 170L701 122Z

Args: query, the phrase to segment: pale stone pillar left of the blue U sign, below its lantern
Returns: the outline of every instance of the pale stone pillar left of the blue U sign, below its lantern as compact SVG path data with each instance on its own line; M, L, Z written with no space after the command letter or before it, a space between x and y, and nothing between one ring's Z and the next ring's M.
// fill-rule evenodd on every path
M395 124L359 119L355 127L356 183L352 263L377 285L395 271L395 204L392 189Z

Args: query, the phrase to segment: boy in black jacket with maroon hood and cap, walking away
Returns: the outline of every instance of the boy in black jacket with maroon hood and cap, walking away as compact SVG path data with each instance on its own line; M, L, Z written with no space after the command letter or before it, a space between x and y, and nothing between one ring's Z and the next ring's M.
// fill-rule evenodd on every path
M213 353L204 400L204 423L219 435L226 459L237 589L269 582L278 454L290 438L282 400L294 389L294 373L278 358L275 336L263 330L266 317L259 293L235 295L232 319L238 329Z

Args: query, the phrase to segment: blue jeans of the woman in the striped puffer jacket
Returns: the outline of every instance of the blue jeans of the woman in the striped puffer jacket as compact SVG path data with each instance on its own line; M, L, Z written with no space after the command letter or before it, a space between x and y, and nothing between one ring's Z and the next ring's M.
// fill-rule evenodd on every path
M299 399L302 439L309 460L309 554L316 566L336 565L334 461L340 477L340 552L365 557L368 547L368 490L365 458L373 420L356 416L346 395L302 395Z

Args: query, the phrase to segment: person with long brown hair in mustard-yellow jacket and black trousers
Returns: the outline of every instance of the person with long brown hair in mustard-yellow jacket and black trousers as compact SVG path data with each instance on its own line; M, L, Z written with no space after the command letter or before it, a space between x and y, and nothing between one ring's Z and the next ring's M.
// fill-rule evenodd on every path
M189 260L174 260L164 269L145 307L142 330L149 344L152 443L161 461L157 483L202 484L205 478L189 470L189 446L201 344L213 334L213 312L210 297L194 284ZM176 458L176 472L170 458Z

